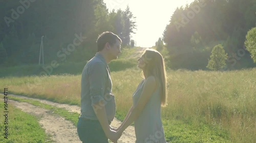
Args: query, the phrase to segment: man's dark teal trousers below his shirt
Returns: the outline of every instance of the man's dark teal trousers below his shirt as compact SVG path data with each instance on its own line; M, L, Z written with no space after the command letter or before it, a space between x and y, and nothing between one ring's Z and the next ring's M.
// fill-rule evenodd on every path
M77 133L82 143L109 143L99 121L79 118Z

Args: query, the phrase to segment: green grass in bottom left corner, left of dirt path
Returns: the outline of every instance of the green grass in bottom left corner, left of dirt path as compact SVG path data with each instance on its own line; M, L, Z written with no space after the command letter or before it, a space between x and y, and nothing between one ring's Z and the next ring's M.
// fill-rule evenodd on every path
M3 99L4 96L0 95ZM4 103L4 102L3 102ZM0 130L1 138L0 142L20 142L20 143L34 143L34 142L51 142L50 136L47 135L44 129L38 123L38 119L35 116L30 115L29 113L23 112L22 110L15 108L12 104L8 104L8 139L4 138L4 129L5 129L5 117L4 113L4 104L2 103L0 116Z

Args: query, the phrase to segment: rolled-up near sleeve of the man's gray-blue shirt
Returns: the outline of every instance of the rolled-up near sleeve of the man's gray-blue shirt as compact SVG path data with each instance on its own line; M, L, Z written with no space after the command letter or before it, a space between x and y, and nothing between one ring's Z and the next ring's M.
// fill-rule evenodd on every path
M94 63L89 70L90 96L92 106L104 101L104 90L106 84L106 68L103 63Z

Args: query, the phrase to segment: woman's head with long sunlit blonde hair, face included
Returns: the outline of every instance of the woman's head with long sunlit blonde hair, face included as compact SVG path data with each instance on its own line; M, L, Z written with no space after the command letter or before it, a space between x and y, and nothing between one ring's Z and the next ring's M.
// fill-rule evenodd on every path
M167 103L166 93L166 73L164 59L161 53L154 49L146 49L141 58L146 63L143 73L144 77L154 76L157 83L160 84L161 105L165 106Z

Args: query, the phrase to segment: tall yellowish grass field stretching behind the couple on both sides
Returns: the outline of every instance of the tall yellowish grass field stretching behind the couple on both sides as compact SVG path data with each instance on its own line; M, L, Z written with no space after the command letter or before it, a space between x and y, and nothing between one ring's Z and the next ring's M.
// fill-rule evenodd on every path
M112 72L116 117L123 120L140 70ZM167 71L168 105L162 108L165 136L171 142L254 142L256 69L210 72ZM0 78L13 94L80 105L80 75ZM3 92L4 89L0 89Z

